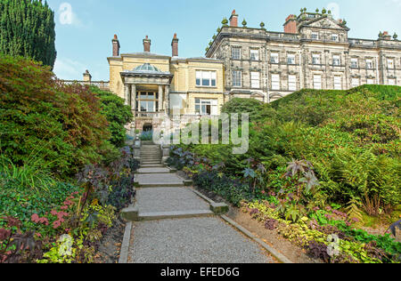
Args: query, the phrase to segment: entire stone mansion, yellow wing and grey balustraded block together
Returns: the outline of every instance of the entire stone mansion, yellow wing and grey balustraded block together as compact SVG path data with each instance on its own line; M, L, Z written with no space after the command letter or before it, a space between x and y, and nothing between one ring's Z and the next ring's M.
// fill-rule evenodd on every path
M273 32L264 24L239 27L233 11L213 36L206 57L195 58L178 56L176 35L171 55L152 53L148 36L143 52L120 53L114 36L110 91L131 106L132 129L147 131L161 127L173 109L186 121L217 116L234 97L271 102L303 88L401 85L397 36L384 32L377 40L365 40L349 38L348 31L346 22L334 20L331 12L302 10L285 20L284 32Z

